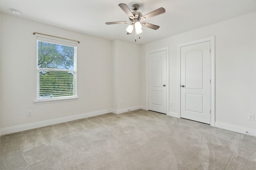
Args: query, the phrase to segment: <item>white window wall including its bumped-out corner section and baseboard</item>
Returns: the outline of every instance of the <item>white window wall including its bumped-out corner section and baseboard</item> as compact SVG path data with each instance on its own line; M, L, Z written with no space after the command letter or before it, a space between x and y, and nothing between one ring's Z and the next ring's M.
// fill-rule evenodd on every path
M7 14L1 14L0 31L0 134L140 108L140 45L120 40L111 42ZM33 32L80 41L77 46L78 100L34 103L37 35ZM33 116L27 116L29 109Z

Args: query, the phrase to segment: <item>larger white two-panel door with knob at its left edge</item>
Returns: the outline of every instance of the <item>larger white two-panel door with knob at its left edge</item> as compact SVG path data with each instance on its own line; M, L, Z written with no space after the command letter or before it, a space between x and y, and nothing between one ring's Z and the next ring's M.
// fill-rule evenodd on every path
M181 47L180 115L210 124L210 41Z

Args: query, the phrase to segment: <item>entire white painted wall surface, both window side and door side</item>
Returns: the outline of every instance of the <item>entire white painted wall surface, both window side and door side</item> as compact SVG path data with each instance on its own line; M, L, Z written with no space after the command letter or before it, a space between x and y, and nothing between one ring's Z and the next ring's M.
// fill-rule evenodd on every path
M247 119L248 113L256 116L255 18L256 12L253 12L139 46L1 14L0 128L2 132L3 129L17 130L17 127L48 120L105 113L111 108L117 113L146 108L146 51L163 47L169 47L169 100L172 102L169 111L176 113L177 45L215 35L216 123L230 130L256 129L255 121ZM78 100L34 103L36 35L33 32L81 42L77 59ZM27 117L28 109L33 110L33 116Z

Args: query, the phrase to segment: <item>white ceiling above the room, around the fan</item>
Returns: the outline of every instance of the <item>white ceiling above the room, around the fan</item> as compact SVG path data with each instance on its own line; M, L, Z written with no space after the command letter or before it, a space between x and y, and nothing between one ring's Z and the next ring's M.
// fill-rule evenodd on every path
M22 12L21 18L36 20L108 40L134 42L135 34L126 35L128 24L106 25L105 22L129 21L118 6L130 10L139 4L143 15L160 7L166 13L146 20L159 25L158 30L142 27L138 44L145 44L192 29L256 11L256 0L0 0L0 11L14 15L11 8ZM36 30L35 30L36 31Z

